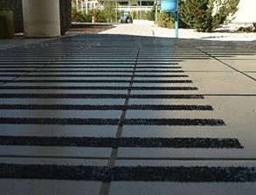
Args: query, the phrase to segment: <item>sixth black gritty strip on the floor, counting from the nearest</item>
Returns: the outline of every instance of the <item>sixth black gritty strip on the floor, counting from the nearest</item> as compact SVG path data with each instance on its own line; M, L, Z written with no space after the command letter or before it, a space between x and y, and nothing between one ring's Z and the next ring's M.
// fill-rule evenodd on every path
M197 87L126 87L126 86L0 86L0 90L142 90L196 91Z

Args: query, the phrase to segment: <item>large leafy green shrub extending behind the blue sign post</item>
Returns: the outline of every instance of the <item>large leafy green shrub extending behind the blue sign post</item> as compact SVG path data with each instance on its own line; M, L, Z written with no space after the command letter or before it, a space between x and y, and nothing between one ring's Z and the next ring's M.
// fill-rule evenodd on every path
M229 21L238 10L239 0L179 0L179 28L211 32ZM157 24L174 26L170 14L160 13ZM168 22L170 21L170 22Z

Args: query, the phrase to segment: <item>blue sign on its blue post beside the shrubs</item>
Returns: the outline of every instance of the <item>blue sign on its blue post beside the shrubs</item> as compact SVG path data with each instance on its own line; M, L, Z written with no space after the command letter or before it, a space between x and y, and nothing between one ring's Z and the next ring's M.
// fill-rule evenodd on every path
M175 37L178 38L178 0L161 0L161 10L174 12Z

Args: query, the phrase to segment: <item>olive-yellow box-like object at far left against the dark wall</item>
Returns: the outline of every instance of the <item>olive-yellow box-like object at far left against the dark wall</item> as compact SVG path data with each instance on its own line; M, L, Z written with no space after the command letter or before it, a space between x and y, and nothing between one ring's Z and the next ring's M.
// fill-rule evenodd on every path
M0 39L14 38L14 16L12 10L0 10Z

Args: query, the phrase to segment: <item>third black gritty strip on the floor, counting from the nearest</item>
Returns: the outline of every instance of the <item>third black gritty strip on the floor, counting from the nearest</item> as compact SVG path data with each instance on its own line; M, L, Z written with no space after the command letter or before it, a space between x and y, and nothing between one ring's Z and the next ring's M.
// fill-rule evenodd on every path
M59 124L59 125L225 125L221 119L201 118L130 118L119 123L118 118L0 118L0 124Z

